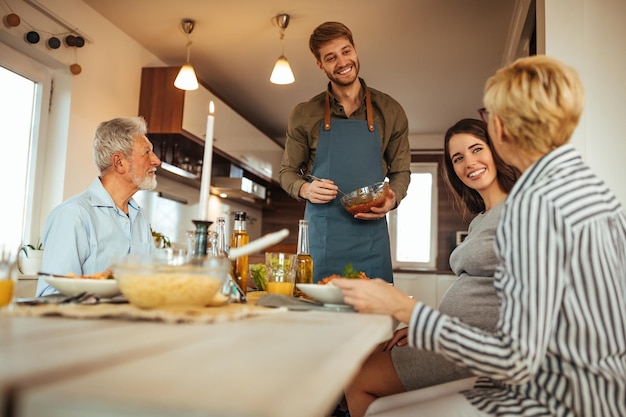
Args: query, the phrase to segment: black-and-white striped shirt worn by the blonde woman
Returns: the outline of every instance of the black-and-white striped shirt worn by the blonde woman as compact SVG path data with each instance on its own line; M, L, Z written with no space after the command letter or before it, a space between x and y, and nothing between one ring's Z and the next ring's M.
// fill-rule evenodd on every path
M409 343L480 376L497 416L626 416L626 214L571 145L518 180L496 233L495 333L418 303Z

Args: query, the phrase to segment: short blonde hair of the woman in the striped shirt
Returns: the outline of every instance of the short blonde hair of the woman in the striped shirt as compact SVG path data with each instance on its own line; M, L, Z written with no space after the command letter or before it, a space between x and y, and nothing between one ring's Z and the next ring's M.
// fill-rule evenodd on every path
M570 140L585 93L573 68L537 55L499 69L487 80L483 101L517 146L547 153Z

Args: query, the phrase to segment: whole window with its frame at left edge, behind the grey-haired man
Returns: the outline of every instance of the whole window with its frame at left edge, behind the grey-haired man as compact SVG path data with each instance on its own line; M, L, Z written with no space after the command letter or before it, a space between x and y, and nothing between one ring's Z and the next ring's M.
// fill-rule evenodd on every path
M16 247L35 245L40 238L46 165L40 139L47 123L51 79L47 67L0 43L0 146L5 151L0 193L10 201L0 218L0 242Z

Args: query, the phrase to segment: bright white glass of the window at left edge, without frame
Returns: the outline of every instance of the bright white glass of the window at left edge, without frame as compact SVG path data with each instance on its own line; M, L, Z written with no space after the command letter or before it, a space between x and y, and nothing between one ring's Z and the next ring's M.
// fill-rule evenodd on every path
M24 229L35 87L33 81L0 66L0 147L5 151L0 164L0 195L5 200L0 243L15 247Z

